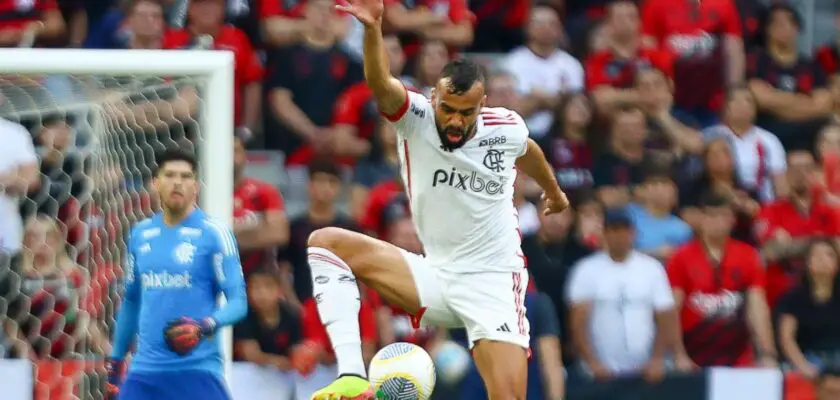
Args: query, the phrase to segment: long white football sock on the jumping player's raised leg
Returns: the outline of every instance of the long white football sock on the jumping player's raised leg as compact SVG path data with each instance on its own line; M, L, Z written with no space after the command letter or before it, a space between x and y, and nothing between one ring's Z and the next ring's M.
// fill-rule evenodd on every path
M321 247L307 249L307 259L312 293L335 351L338 374L367 377L359 330L359 286L353 271L335 253Z

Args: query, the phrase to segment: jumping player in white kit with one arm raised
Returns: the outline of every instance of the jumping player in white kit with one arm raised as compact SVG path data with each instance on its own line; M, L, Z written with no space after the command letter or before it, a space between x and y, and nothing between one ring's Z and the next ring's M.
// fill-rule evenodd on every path
M402 181L426 256L362 234L323 228L309 236L316 304L339 377L314 399L366 399L359 339L358 279L427 325L465 327L491 400L525 399L528 273L513 206L516 171L545 191L545 212L568 206L522 118L485 108L482 68L447 64L431 99L406 91L389 73L382 0L340 5L365 26L365 79L398 135Z

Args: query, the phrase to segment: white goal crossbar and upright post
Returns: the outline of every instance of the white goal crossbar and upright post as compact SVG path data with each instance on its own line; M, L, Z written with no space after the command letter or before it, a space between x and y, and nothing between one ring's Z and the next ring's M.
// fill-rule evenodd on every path
M201 207L212 217L232 222L233 53L199 50L0 49L0 77L43 75L197 78L196 81L201 82L197 88L201 93L197 115L202 140L195 145L200 156L199 175L203 184ZM60 105L65 108L71 106ZM225 329L221 337L229 368L232 355L231 329Z

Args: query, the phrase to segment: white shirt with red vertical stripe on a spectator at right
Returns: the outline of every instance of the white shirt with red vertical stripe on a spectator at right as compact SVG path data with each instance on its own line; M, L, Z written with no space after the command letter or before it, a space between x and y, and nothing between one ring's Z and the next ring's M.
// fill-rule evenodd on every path
M741 183L755 190L762 203L775 199L773 176L787 171L787 154L776 135L753 126L738 136L728 126L720 124L706 128L703 136L707 142L721 137L726 139Z

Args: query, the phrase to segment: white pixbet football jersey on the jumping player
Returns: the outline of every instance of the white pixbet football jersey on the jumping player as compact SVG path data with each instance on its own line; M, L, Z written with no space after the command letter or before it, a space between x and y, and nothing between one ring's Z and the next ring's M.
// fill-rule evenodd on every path
M391 118L414 226L437 268L453 272L524 267L513 183L528 128L506 108L483 108L477 132L453 151L441 148L434 110L423 95ZM397 119L398 117L398 119Z

